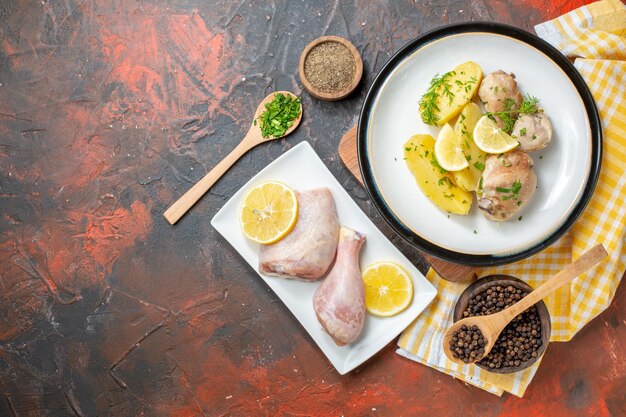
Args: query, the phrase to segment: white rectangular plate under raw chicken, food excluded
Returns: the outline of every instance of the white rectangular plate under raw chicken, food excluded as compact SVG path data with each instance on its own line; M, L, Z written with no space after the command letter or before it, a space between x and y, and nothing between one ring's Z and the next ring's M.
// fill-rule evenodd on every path
M361 211L308 142L295 146L259 172L228 200L211 220L213 227L233 245L255 271L258 272L259 245L246 239L239 226L238 217L246 192L265 181L281 181L295 190L328 187L335 198L339 222L366 235L366 242L361 251L361 269L376 261L390 260L402 265L413 278L415 289L413 301L406 310L388 318L367 314L359 339L351 345L339 347L324 332L313 310L313 293L321 280L302 282L259 274L300 321L337 371L342 375L348 373L404 330L435 298L437 290Z

